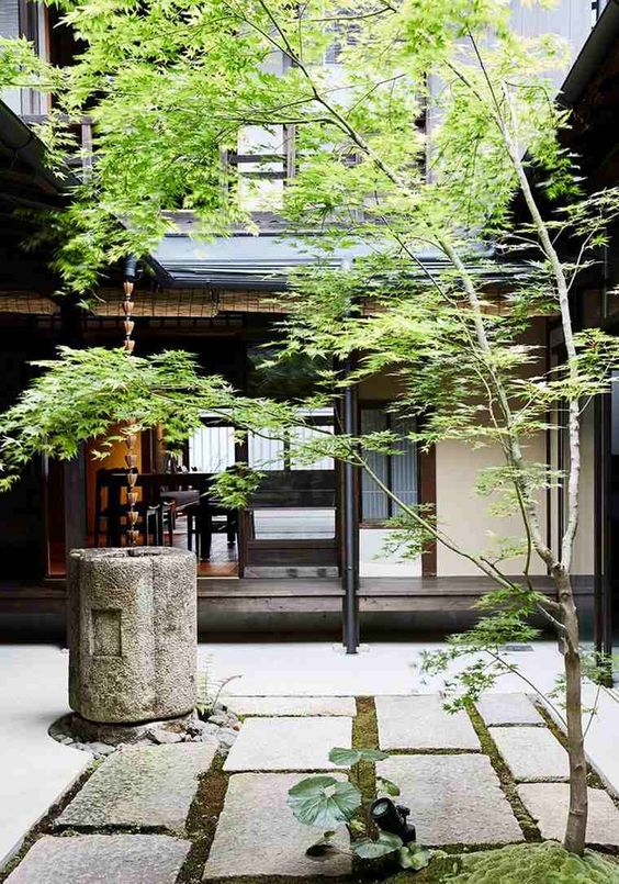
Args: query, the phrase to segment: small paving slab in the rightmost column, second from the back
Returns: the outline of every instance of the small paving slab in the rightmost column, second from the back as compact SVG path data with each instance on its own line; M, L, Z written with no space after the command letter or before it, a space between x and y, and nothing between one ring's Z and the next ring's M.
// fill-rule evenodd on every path
M570 777L567 752L548 728L491 727L489 735L519 783Z

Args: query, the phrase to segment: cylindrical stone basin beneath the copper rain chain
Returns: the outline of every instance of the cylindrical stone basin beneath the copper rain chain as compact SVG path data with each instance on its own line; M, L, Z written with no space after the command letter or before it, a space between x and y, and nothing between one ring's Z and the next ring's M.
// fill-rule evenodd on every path
M75 549L69 705L90 721L185 715L196 700L196 562L170 547Z

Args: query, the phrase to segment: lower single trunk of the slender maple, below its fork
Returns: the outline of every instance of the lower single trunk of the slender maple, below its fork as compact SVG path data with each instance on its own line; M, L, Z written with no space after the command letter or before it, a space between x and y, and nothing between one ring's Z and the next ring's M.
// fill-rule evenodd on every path
M570 813L563 846L571 853L583 853L587 830L587 762L583 736L582 672L578 647L578 615L572 595L570 577L558 580L559 597L565 626L563 662L565 667L565 701L567 723L567 754L570 757Z

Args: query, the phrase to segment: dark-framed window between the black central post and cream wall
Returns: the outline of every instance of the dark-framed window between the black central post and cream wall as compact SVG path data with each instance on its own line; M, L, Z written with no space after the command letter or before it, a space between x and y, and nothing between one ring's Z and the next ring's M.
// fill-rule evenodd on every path
M385 411L384 405L361 406L361 433L391 429L399 436L394 449L398 454L383 455L365 451L370 469L405 504L416 504L417 494L417 445L407 438L415 429L415 421L397 417ZM399 454L402 452L402 454ZM382 491L371 475L361 471L361 522L385 522L397 516L401 507Z

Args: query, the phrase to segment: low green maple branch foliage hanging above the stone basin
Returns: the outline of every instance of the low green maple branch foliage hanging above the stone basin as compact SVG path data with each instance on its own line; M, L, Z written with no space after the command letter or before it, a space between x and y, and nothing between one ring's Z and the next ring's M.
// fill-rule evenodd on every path
M42 373L0 416L2 490L38 454L66 460L76 456L80 443L100 439L98 456L104 458L130 423L138 430L161 425L170 448L181 446L205 414L259 433L297 423L295 409L237 395L222 378L201 372L194 357L181 350L127 357L122 349L60 347L57 359L33 365ZM259 474L240 467L220 478L217 494L238 506L257 481Z

